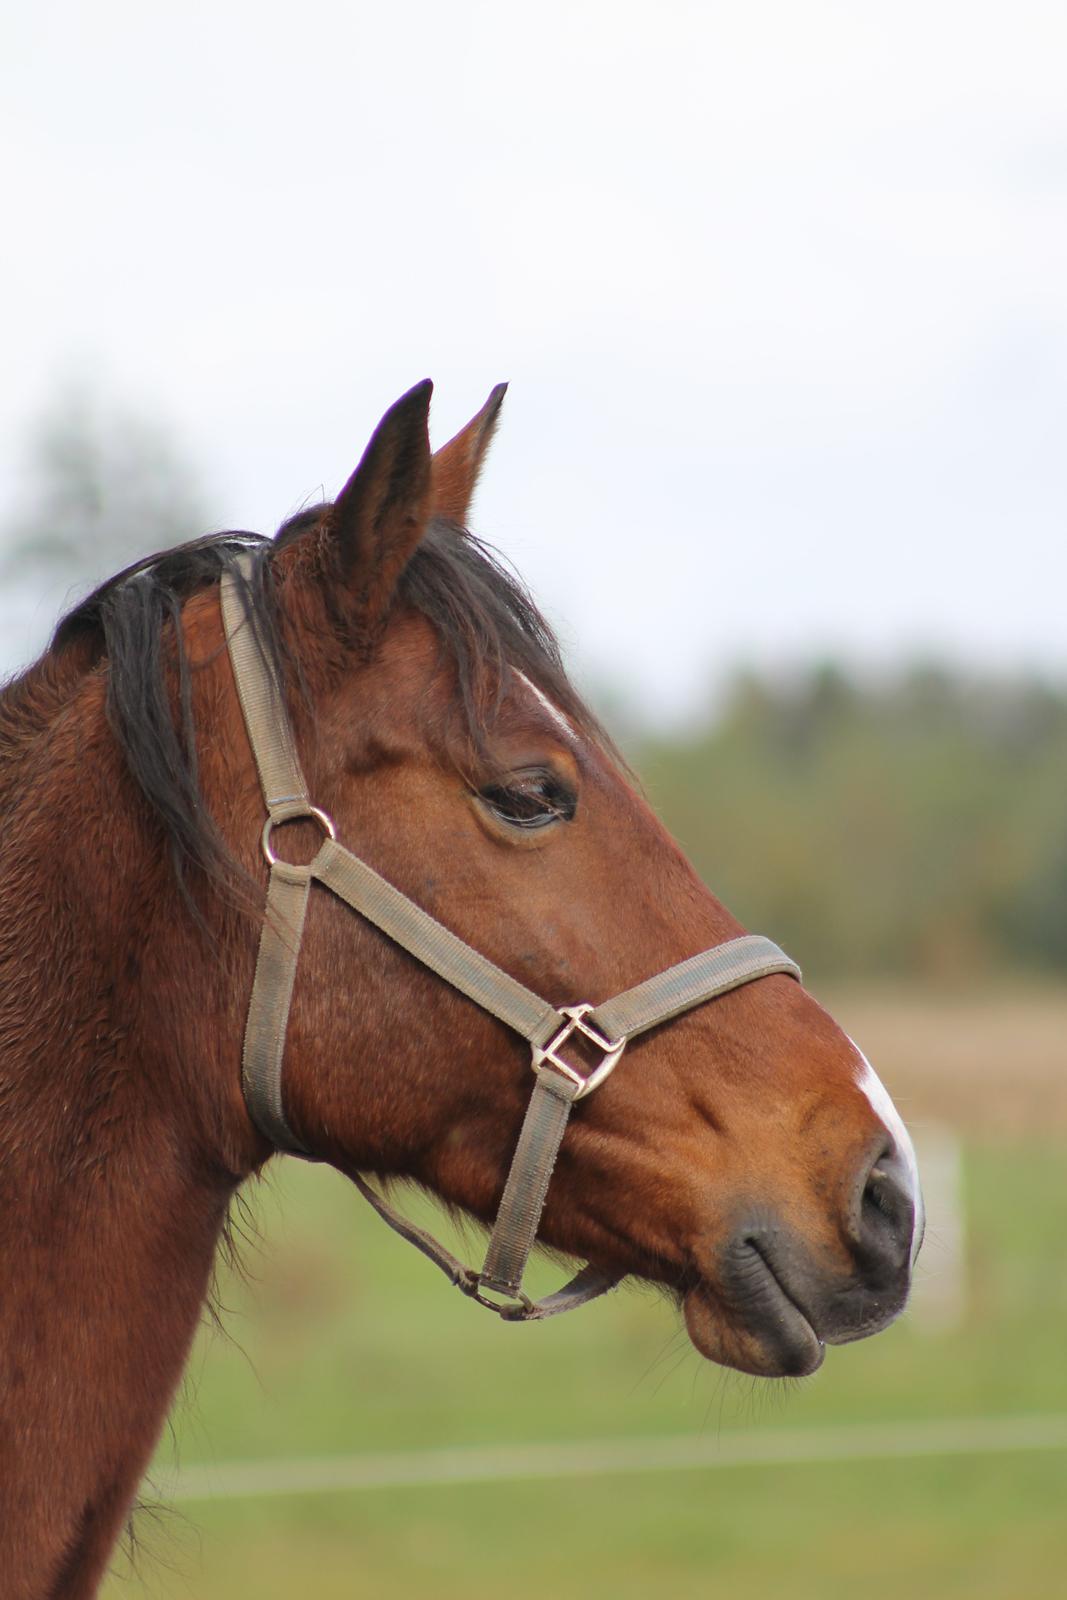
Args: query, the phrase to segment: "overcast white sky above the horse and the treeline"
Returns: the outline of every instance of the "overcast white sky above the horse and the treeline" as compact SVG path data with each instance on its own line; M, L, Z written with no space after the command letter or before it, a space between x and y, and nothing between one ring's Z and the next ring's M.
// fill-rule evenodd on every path
M0 514L72 371L262 530L416 379L443 442L507 378L475 528L646 714L1062 674L1065 83L1062 0L19 6Z

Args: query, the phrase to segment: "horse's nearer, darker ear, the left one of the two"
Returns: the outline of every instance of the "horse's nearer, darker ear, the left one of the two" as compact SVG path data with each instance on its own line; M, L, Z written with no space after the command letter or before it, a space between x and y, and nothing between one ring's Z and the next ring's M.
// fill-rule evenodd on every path
M389 606L434 515L427 427L432 392L426 378L386 411L330 510L336 570L368 622Z

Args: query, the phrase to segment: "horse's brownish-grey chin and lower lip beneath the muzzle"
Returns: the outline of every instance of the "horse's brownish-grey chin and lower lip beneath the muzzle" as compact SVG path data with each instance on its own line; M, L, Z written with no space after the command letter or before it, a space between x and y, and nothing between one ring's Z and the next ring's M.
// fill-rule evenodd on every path
M785 1290L771 1278L758 1310L742 1317L710 1285L685 1296L689 1339L709 1362L755 1378L806 1378L822 1365L825 1346Z

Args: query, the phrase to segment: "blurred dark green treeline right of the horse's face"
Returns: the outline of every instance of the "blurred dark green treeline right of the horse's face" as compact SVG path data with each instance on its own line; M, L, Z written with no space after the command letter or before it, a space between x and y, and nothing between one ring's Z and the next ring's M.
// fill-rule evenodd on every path
M704 880L813 974L1067 970L1064 688L745 675L633 755Z

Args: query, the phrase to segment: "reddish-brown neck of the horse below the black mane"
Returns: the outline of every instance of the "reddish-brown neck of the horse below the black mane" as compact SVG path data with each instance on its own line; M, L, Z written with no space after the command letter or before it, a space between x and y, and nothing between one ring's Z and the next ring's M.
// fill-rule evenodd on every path
M61 707L0 784L3 1592L80 1600L162 1429L240 1176L205 1086L230 1018L195 930L170 923L190 926L165 904L102 691ZM168 970L203 1037L181 997L174 1016L158 1003Z

